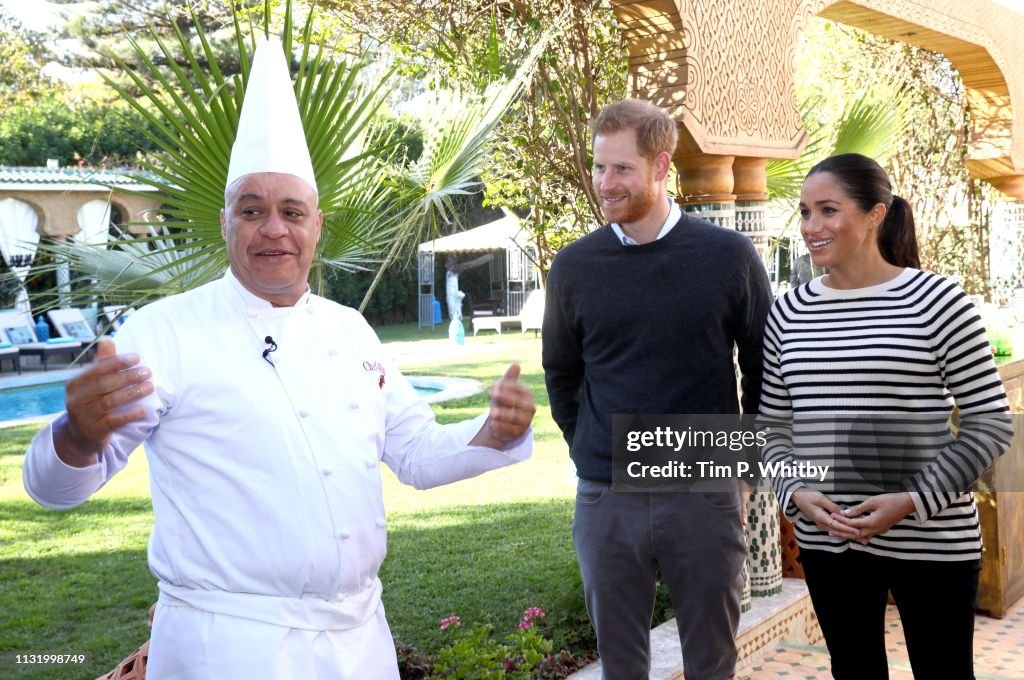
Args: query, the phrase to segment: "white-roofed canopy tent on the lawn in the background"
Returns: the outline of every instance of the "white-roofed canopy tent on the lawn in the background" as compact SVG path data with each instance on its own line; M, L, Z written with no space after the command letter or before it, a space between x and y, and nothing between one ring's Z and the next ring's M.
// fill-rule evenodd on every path
M537 248L530 233L512 212L502 210L505 215L494 222L420 244L418 280L421 327L433 325L434 268L437 255L451 254L465 258L494 253L496 257L490 260L488 302L495 306L496 312L518 314L529 292L540 288ZM498 256L499 254L503 256ZM441 288L443 289L443 284Z

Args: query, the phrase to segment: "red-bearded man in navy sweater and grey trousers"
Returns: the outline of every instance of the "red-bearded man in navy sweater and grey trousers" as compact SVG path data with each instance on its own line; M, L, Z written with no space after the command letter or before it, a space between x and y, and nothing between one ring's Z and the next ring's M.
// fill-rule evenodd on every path
M684 215L666 180L676 123L627 99L591 122L594 189L609 224L548 274L544 370L580 477L572 539L604 677L648 677L658 573L687 680L731 678L745 488L611 488L614 414L756 414L772 295L749 239Z

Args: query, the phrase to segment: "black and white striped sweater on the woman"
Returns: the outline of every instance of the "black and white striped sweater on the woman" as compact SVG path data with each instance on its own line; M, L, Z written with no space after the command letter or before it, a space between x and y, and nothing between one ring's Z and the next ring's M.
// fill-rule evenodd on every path
M821 279L782 295L764 338L761 419L772 463L829 465L824 481L776 475L801 549L902 559L981 556L969 488L1013 437L1009 403L974 304L955 284L904 269L870 288ZM953 406L963 418L954 437ZM852 506L910 492L915 512L867 545L831 538L791 503L811 487Z

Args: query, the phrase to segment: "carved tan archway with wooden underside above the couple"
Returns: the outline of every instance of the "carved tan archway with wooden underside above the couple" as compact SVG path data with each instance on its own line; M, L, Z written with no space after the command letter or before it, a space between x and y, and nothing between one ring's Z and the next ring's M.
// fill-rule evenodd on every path
M813 16L945 54L974 116L972 176L1024 199L1024 15L996 0L613 0L634 96L679 121L683 203L756 194L763 161L796 158L806 135L794 57ZM738 171L736 158L745 159ZM760 168L760 169L759 169ZM736 189L736 182L740 187Z

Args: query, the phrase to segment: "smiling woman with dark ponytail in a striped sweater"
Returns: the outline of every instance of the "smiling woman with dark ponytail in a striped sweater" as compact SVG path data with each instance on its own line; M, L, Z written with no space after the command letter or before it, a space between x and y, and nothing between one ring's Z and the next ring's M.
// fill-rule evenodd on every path
M829 272L768 317L763 455L796 521L833 676L888 678L891 591L914 677L973 678L981 532L969 488L1012 438L981 318L919 268L910 206L871 159L814 166L800 214ZM828 465L826 479L797 476L800 463Z

